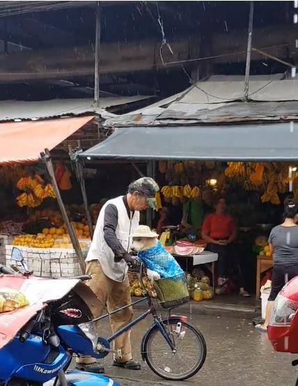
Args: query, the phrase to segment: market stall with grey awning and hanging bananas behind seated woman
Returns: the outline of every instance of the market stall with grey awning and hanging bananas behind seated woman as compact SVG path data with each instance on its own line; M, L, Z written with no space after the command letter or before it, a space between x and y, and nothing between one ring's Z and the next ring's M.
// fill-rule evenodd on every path
M162 188L162 206L179 206L182 214L183 207L189 205L200 211L200 219L194 216L189 228L178 236L187 242L200 241L203 218L212 210L210 196L227 197L230 213L237 221L237 259L246 264L245 279L249 290L254 291L260 280L256 266L261 259L257 256L269 252L267 236L281 219L283 198L290 191L298 196L297 135L295 122L123 127L116 128L109 139L80 157L86 164L99 159L157 162L154 177ZM168 225L180 223L178 220ZM262 229L262 225L267 229ZM164 243L166 247L175 247L176 240L170 241ZM181 255L187 262L194 256ZM204 270L202 275L210 273ZM191 275L189 280L198 282L201 277ZM212 275L209 280L212 284Z

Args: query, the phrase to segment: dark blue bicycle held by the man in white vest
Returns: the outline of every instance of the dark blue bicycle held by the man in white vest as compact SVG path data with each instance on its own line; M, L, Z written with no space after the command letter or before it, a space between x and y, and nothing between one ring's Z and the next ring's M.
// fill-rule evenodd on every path
M162 300L162 306L168 309L168 316L163 318L162 315L157 314L152 298L146 290L146 286L143 283L143 273L144 266L143 263L141 263L139 281L141 283L144 298L131 302L124 307L120 307L88 322L88 324L95 323L135 304L141 302L148 303L148 310L146 312L112 334L111 337L108 337L107 339L102 337L98 338L97 353L100 353L100 358L106 357L113 351L110 348L111 341L119 337L123 332L130 330L134 325L143 321L143 319L151 314L154 323L148 329L141 341L141 357L143 361L146 361L150 369L158 376L166 380L185 380L191 378L201 369L205 362L207 353L205 339L194 325L187 322L187 316L171 314L173 308L183 302L189 301L188 292L184 293L184 295L187 296L182 294L182 298L179 299L179 296L176 296L177 299L171 298L171 300L167 302L164 298L165 291L162 286L155 286L158 298L159 300ZM164 279L159 280L162 281ZM179 288L182 288L179 280L180 279L176 279L175 281L175 278L173 279L173 288L175 287L175 284L177 284L177 286L179 284ZM185 275L182 281L183 288L187 291ZM171 288L171 291L173 288ZM161 355L160 359L159 355ZM191 363L192 361L194 362L193 364Z

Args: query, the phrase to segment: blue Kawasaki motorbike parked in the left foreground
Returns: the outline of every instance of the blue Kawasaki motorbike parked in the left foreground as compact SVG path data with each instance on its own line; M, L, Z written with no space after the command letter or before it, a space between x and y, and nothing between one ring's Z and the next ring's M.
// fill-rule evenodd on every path
M24 265L22 256L18 256L17 252L14 257ZM40 286L46 286L50 281L53 286L58 286L59 281L61 282L60 279L52 279L46 283L42 279L33 278L28 270L25 272L27 273L22 272L22 277L12 275L15 272L0 266L0 274L4 274L0 275L0 288L15 288L14 281L17 281L17 286L28 285L31 281L38 292ZM77 291L77 286L84 286L80 281L84 278L69 281L72 283L69 288L73 288L70 291L67 288L62 298L47 302L42 300L42 306L35 309L32 307L34 316L28 314L30 306L0 314L1 386L120 386L116 381L100 374L68 371L73 353L96 357L94 341L90 338L93 334L86 330L87 322L92 320L94 314L84 302L84 294L79 295ZM67 279L62 281L64 284ZM24 325L9 338L8 330L11 332L23 320Z

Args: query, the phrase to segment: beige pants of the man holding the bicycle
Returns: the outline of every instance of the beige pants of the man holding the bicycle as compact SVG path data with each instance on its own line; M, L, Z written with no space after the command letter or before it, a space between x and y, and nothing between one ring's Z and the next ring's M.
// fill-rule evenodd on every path
M99 315L104 314L123 307L132 302L130 298L130 281L128 277L124 281L114 281L104 275L99 261L88 261L86 266L86 275L91 277L86 281L91 290L97 295L97 298L102 302L102 308L99 310ZM107 308L105 308L107 307ZM132 307L123 309L110 316L110 324L112 332L120 330L121 327L132 321ZM130 331L124 332L115 341L113 341L113 349L116 350L114 360L118 362L127 362L132 359L132 346L130 343ZM95 363L96 360L92 357L78 357L77 362L81 364Z

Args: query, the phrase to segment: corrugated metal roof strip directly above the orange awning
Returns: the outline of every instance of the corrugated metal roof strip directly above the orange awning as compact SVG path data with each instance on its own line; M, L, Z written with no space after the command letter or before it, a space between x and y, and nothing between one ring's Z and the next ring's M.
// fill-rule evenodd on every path
M80 114L96 113L103 118L112 117L114 114L105 109L126 105L139 100L150 98L148 96L132 97L107 97L100 99L100 107L93 104L92 99L53 99L34 102L22 100L0 101L0 121L15 121L16 119L42 119L58 116L77 116Z

